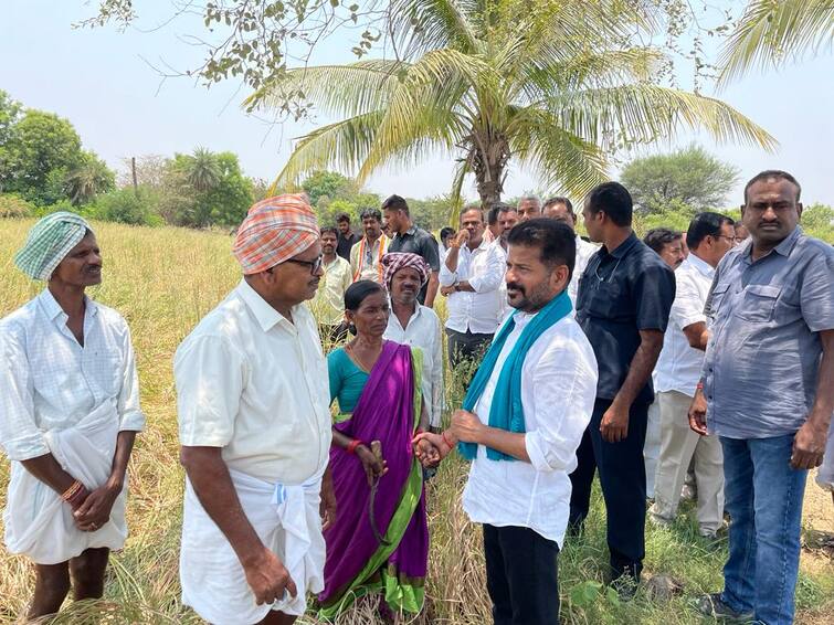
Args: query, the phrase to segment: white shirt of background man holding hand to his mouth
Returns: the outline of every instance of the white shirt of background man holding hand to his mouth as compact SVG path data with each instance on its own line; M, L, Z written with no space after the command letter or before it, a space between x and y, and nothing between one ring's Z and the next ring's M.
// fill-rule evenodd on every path
M441 286L466 280L475 289L475 293L457 292L448 296L446 328L476 335L495 333L503 308L500 285L506 273L507 256L504 250L486 237L474 251L466 245L461 247L457 271L450 271L444 259L440 267Z

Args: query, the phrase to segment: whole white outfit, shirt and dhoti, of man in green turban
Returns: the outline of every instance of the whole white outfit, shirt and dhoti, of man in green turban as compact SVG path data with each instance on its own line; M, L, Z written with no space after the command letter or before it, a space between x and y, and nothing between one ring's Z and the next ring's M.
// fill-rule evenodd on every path
M0 445L12 460L3 513L6 545L39 564L85 549L120 549L125 491L95 532L75 527L67 504L21 464L52 453L87 488L110 474L120 431L141 431L136 362L127 324L86 300L84 347L49 290L0 321Z

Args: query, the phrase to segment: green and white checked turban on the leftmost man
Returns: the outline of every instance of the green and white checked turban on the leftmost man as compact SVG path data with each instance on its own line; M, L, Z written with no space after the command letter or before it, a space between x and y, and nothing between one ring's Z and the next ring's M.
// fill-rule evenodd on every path
M75 213L61 211L46 215L29 231L14 264L32 279L47 280L87 231L93 229Z

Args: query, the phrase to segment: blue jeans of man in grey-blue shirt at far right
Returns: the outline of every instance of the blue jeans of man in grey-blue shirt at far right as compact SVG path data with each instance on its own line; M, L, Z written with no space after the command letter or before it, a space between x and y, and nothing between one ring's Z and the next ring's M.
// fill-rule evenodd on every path
M790 466L793 434L721 436L730 555L721 598L767 625L793 623L806 470Z

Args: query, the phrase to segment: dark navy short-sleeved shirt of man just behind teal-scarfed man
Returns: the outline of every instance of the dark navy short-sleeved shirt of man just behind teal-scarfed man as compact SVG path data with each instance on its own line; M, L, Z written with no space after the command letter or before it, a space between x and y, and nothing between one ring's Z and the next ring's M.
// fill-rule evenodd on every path
M640 330L666 331L675 299L675 274L632 232L613 253L603 245L579 280L577 321L597 356L597 396L613 400L640 347ZM635 403L654 400L652 380Z

